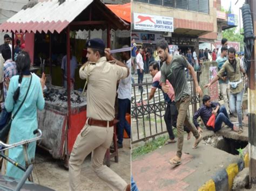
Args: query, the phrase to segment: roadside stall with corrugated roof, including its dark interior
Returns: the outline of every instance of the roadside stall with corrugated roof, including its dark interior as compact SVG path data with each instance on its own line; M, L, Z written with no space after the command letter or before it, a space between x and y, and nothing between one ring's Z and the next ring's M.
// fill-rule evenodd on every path
M130 24L98 0L65 1L61 6L57 0L39 2L0 25L0 31L12 32L13 37L15 33L25 34L25 50L30 53L32 65L40 68L37 74L48 74L45 108L38 112L38 128L43 131L39 146L48 150L53 158L68 159L86 122L86 97L78 91L85 84L79 80L78 70L86 61L83 60L86 39L77 39L76 32L102 30L106 35L106 46L111 48L111 30L118 29L129 30ZM31 43L28 37L32 39ZM71 52L78 61L75 90L71 89ZM66 89L63 88L61 69L64 55L67 58Z

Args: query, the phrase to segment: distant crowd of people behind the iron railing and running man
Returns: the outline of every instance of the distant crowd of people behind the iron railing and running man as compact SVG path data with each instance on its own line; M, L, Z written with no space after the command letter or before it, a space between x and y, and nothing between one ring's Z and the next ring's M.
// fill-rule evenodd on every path
M228 41L226 38L223 38L221 40L221 47L227 46ZM199 49L197 53L196 48L187 48L184 52L184 49L177 48L174 49L174 51L170 51L169 53L174 55L181 55L184 56L184 58L190 63L190 65L194 68L194 70L197 73L197 78L199 81L199 76L201 74L201 66L203 62L205 61L218 61L217 59L220 58L221 54L221 47L220 48L214 48L212 51L208 48L205 49ZM136 45L136 42L134 39L131 41L131 54L132 54L132 74L138 75L138 83L143 83L144 74L150 73L150 63L153 61L158 62L159 66L161 67L163 65L163 62L161 62L159 55L157 53L156 46L143 46L138 47ZM226 56L225 56L226 58ZM244 54L239 53L235 54L235 58L238 58L240 60L240 65L242 68L244 68ZM186 71L186 77L192 78L190 73L188 72L188 69L185 68ZM133 77L132 77L133 83ZM221 83L221 80L220 80ZM223 86L223 85L221 85ZM143 91L143 87L139 86L139 90ZM221 92L222 93L222 92ZM224 94L225 96L226 94ZM227 98L225 97L224 100L226 101ZM228 107L226 107L228 110ZM229 111L228 111L229 112ZM229 113L228 113L229 114Z

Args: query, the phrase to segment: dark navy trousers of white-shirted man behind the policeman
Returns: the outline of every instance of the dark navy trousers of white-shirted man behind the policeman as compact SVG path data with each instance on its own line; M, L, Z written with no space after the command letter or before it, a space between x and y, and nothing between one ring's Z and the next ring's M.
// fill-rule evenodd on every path
M118 119L117 124L117 143L123 144L124 129L129 137L131 137L131 125L126 121L125 115L127 109L131 107L131 101L129 99L119 99L118 98Z

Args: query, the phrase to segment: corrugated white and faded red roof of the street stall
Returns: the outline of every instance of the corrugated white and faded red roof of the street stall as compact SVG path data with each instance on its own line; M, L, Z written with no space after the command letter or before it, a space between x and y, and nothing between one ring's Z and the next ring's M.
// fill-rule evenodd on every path
M39 2L32 8L21 10L6 22L0 25L0 31L5 32L45 32L60 33L91 3L100 8L112 18L112 29L120 27L126 29L129 24L115 15L105 4L99 0L66 0L59 5L58 0ZM92 13L95 10L92 10ZM102 16L104 20L104 16ZM109 19L111 20L111 19ZM105 26L104 26L105 27ZM84 29L102 29L103 26L86 26ZM93 30L91 29L91 30ZM121 29L122 30L122 29Z

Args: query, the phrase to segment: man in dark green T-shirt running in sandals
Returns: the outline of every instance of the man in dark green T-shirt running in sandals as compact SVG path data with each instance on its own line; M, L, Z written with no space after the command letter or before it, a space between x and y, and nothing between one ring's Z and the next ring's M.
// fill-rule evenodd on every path
M200 135L201 130L197 130L196 126L190 121L187 115L187 110L189 109L191 101L190 88L187 85L185 68L191 73L194 83L196 85L196 91L200 96L203 96L203 91L199 87L197 81L196 72L194 68L186 61L183 56L175 55L172 56L169 54L169 46L165 40L160 40L157 43L157 52L160 57L160 60L163 62L161 67L161 82L162 89L165 93L169 90L169 87L166 85L166 80L168 80L173 88L175 93L175 101L178 109L178 118L177 118L177 131L178 131L178 149L175 157L169 160L172 165L181 164L181 154L183 148L183 126L186 125L193 133L193 136L196 138L196 142L193 145L193 148L197 148L200 141L203 137Z

